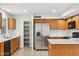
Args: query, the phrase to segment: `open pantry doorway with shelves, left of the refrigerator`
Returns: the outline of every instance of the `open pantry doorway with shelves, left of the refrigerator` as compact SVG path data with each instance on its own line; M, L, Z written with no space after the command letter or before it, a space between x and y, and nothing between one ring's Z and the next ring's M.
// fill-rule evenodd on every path
M29 31L30 23L28 21L24 21L24 47L29 47Z

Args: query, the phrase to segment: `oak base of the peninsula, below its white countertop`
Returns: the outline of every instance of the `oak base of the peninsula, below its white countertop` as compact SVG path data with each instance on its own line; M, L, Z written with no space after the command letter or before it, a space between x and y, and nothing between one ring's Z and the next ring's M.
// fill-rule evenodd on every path
M49 44L49 56L79 56L79 44Z

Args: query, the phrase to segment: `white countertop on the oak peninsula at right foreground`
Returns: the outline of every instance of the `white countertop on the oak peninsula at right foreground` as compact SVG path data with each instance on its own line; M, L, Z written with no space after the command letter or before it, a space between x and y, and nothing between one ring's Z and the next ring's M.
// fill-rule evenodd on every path
M78 38L76 39L48 39L50 44L79 44Z

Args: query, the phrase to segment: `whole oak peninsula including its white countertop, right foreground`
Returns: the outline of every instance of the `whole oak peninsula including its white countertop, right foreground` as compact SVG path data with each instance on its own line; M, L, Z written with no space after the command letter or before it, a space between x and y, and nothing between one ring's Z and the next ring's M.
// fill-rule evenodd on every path
M78 38L53 40L48 39L49 56L79 56Z

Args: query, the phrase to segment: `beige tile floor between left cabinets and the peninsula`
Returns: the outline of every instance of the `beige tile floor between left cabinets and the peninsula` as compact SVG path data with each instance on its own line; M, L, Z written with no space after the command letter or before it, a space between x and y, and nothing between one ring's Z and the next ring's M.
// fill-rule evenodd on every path
M18 49L12 56L48 56L48 51L35 51L25 47Z

